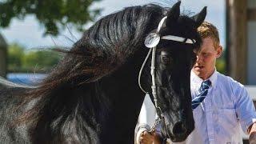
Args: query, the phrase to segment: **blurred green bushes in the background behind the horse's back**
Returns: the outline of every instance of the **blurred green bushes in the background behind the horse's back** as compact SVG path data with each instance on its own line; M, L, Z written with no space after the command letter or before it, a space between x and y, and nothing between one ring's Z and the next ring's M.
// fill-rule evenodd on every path
M62 58L54 50L27 50L17 43L10 44L7 50L9 73L47 73Z

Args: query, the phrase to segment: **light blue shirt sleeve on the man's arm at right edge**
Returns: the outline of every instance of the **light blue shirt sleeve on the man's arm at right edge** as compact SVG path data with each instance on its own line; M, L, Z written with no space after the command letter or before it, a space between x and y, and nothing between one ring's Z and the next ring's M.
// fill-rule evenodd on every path
M235 110L238 114L238 120L242 126L242 130L245 134L248 134L247 129L256 122L254 102L250 98L246 88L240 83L237 84L237 86L234 86L234 97L236 98Z

